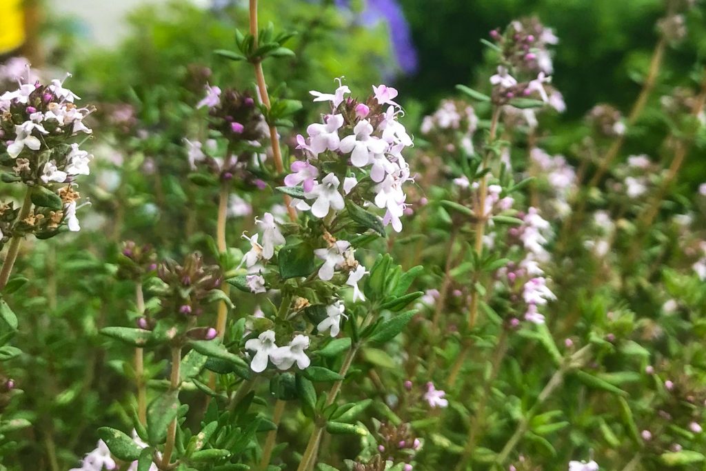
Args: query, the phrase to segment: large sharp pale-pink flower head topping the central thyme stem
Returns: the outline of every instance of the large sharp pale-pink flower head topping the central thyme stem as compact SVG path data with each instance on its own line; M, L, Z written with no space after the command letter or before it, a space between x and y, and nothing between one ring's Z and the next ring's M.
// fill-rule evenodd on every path
M412 138L397 120L402 114L394 101L397 90L373 86L365 102L346 97L349 93L347 85L333 94L311 92L314 101L330 102L331 111L322 123L307 127L308 138L297 136L305 160L292 164L285 185L301 185L301 198L293 204L316 217L335 215L345 207L346 196L384 209L383 224L400 232L407 206L402 186L412 180L402 151Z

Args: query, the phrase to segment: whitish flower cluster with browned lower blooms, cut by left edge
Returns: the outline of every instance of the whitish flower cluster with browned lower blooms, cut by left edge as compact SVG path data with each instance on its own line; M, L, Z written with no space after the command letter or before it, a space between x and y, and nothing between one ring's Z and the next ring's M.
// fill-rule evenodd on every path
M29 68L26 73L30 76ZM32 213L13 230L50 237L64 224L69 230L78 231L79 194L74 182L80 175L90 173L92 155L81 150L73 139L92 132L83 123L92 108L76 106L79 97L57 79L49 85L39 81L19 85L0 95L0 136L4 141L0 166L4 181L22 181L45 190L41 201L33 200ZM56 195L50 189L52 184L66 186Z

